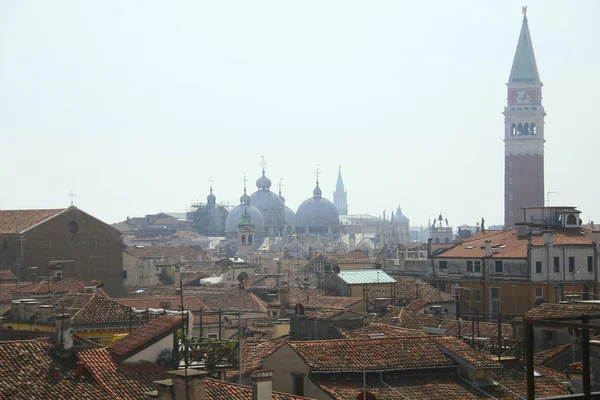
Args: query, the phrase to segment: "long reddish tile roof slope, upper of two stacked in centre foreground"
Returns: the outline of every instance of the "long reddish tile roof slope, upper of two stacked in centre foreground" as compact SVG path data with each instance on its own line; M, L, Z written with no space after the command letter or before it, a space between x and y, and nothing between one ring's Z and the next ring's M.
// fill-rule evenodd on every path
M314 340L290 342L312 372L386 371L442 367L455 362L441 352L429 337L368 339L366 365L363 364L364 340Z

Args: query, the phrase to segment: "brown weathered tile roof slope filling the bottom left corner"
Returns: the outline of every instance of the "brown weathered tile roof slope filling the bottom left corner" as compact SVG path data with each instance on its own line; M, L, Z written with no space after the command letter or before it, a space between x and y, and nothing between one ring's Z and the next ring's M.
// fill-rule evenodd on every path
M0 398L114 398L90 379L75 379L72 370L52 360L50 350L47 340L0 342Z

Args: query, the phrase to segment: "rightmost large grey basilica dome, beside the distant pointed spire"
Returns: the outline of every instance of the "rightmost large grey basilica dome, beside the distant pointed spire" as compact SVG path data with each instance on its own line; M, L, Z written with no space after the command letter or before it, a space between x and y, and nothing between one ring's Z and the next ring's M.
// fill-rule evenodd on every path
M305 200L296 212L296 233L317 235L338 235L340 233L340 216L333 203L321 197L321 188L313 190L313 197Z

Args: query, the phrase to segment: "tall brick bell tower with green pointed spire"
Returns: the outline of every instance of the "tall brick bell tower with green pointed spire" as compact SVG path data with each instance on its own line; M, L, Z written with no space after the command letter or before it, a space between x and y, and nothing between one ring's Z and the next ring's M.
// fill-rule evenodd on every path
M544 205L544 107L527 8L507 83L504 108L504 229L523 221L523 207Z

